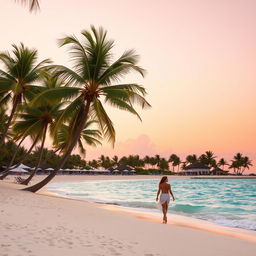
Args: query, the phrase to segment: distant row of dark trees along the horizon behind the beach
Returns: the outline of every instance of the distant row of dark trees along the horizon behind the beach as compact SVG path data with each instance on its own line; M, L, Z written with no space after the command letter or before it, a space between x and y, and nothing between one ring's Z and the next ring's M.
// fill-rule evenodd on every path
M0 150L0 166L4 166L6 163L11 161L12 154L17 149L17 145L9 141ZM21 160L26 155L27 150L24 147L19 147L16 160L13 163L21 163ZM44 159L39 166L40 168L55 168L60 160L60 156L56 151L43 149L42 153ZM35 167L38 164L38 158L40 156L40 148L37 147L22 163L30 167ZM179 173L186 166L193 163L203 163L209 168L222 168L223 170L228 169L231 173L241 175L246 169L252 166L252 161L247 157L243 156L241 153L234 155L233 159L229 162L224 158L219 158L213 154L211 151L206 151L200 156L195 154L188 155L184 160L182 160L176 154L171 154L169 158L161 157L160 155L155 156L145 156L140 157L139 155L129 155L129 156L104 156L101 155L98 159L92 159L86 161L82 159L79 154L72 154L68 157L68 160L64 164L63 168L78 168L78 169L97 169L97 168L116 168L121 165L130 166L138 170L161 170L169 171L172 173ZM3 170L3 167L2 167Z

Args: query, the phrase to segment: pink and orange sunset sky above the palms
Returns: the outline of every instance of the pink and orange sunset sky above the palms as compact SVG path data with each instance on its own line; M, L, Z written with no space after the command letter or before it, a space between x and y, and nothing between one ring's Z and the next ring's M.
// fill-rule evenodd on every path
M30 14L15 1L0 0L0 51L23 42L40 59L70 65L57 39L103 26L115 40L115 57L134 48L147 70L125 81L145 86L152 108L143 119L107 107L117 133L114 149L100 154L169 156L212 150L231 159L256 159L255 0L42 0ZM254 162L256 164L256 162ZM251 171L256 168L252 168Z

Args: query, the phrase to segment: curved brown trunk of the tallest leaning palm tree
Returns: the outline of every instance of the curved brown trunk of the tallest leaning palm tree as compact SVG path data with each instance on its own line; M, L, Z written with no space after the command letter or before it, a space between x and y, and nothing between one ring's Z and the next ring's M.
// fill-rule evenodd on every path
M37 192L39 189L41 189L42 187L44 187L46 184L48 184L57 174L57 172L64 166L65 162L67 161L68 157L70 156L70 154L72 153L74 147L76 146L79 138L80 138L80 134L84 128L84 125L88 119L88 114L89 114L89 109L90 109L90 105L91 105L91 101L87 100L86 105L83 106L78 114L78 118L76 120L76 130L74 132L74 137L72 142L70 143L67 151L65 152L65 154L62 156L62 158L60 159L57 167L54 169L53 172L51 172L46 178L44 178L42 181L40 181L39 183L25 188L23 190L25 191L30 191L30 192Z

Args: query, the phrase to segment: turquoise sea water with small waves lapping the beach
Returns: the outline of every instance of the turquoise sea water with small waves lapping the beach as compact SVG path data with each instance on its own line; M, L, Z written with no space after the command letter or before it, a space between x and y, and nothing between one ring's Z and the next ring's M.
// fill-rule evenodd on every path
M116 180L52 183L48 190L71 198L156 209L159 180ZM175 202L169 212L204 219L219 225L256 230L256 180L175 179Z

